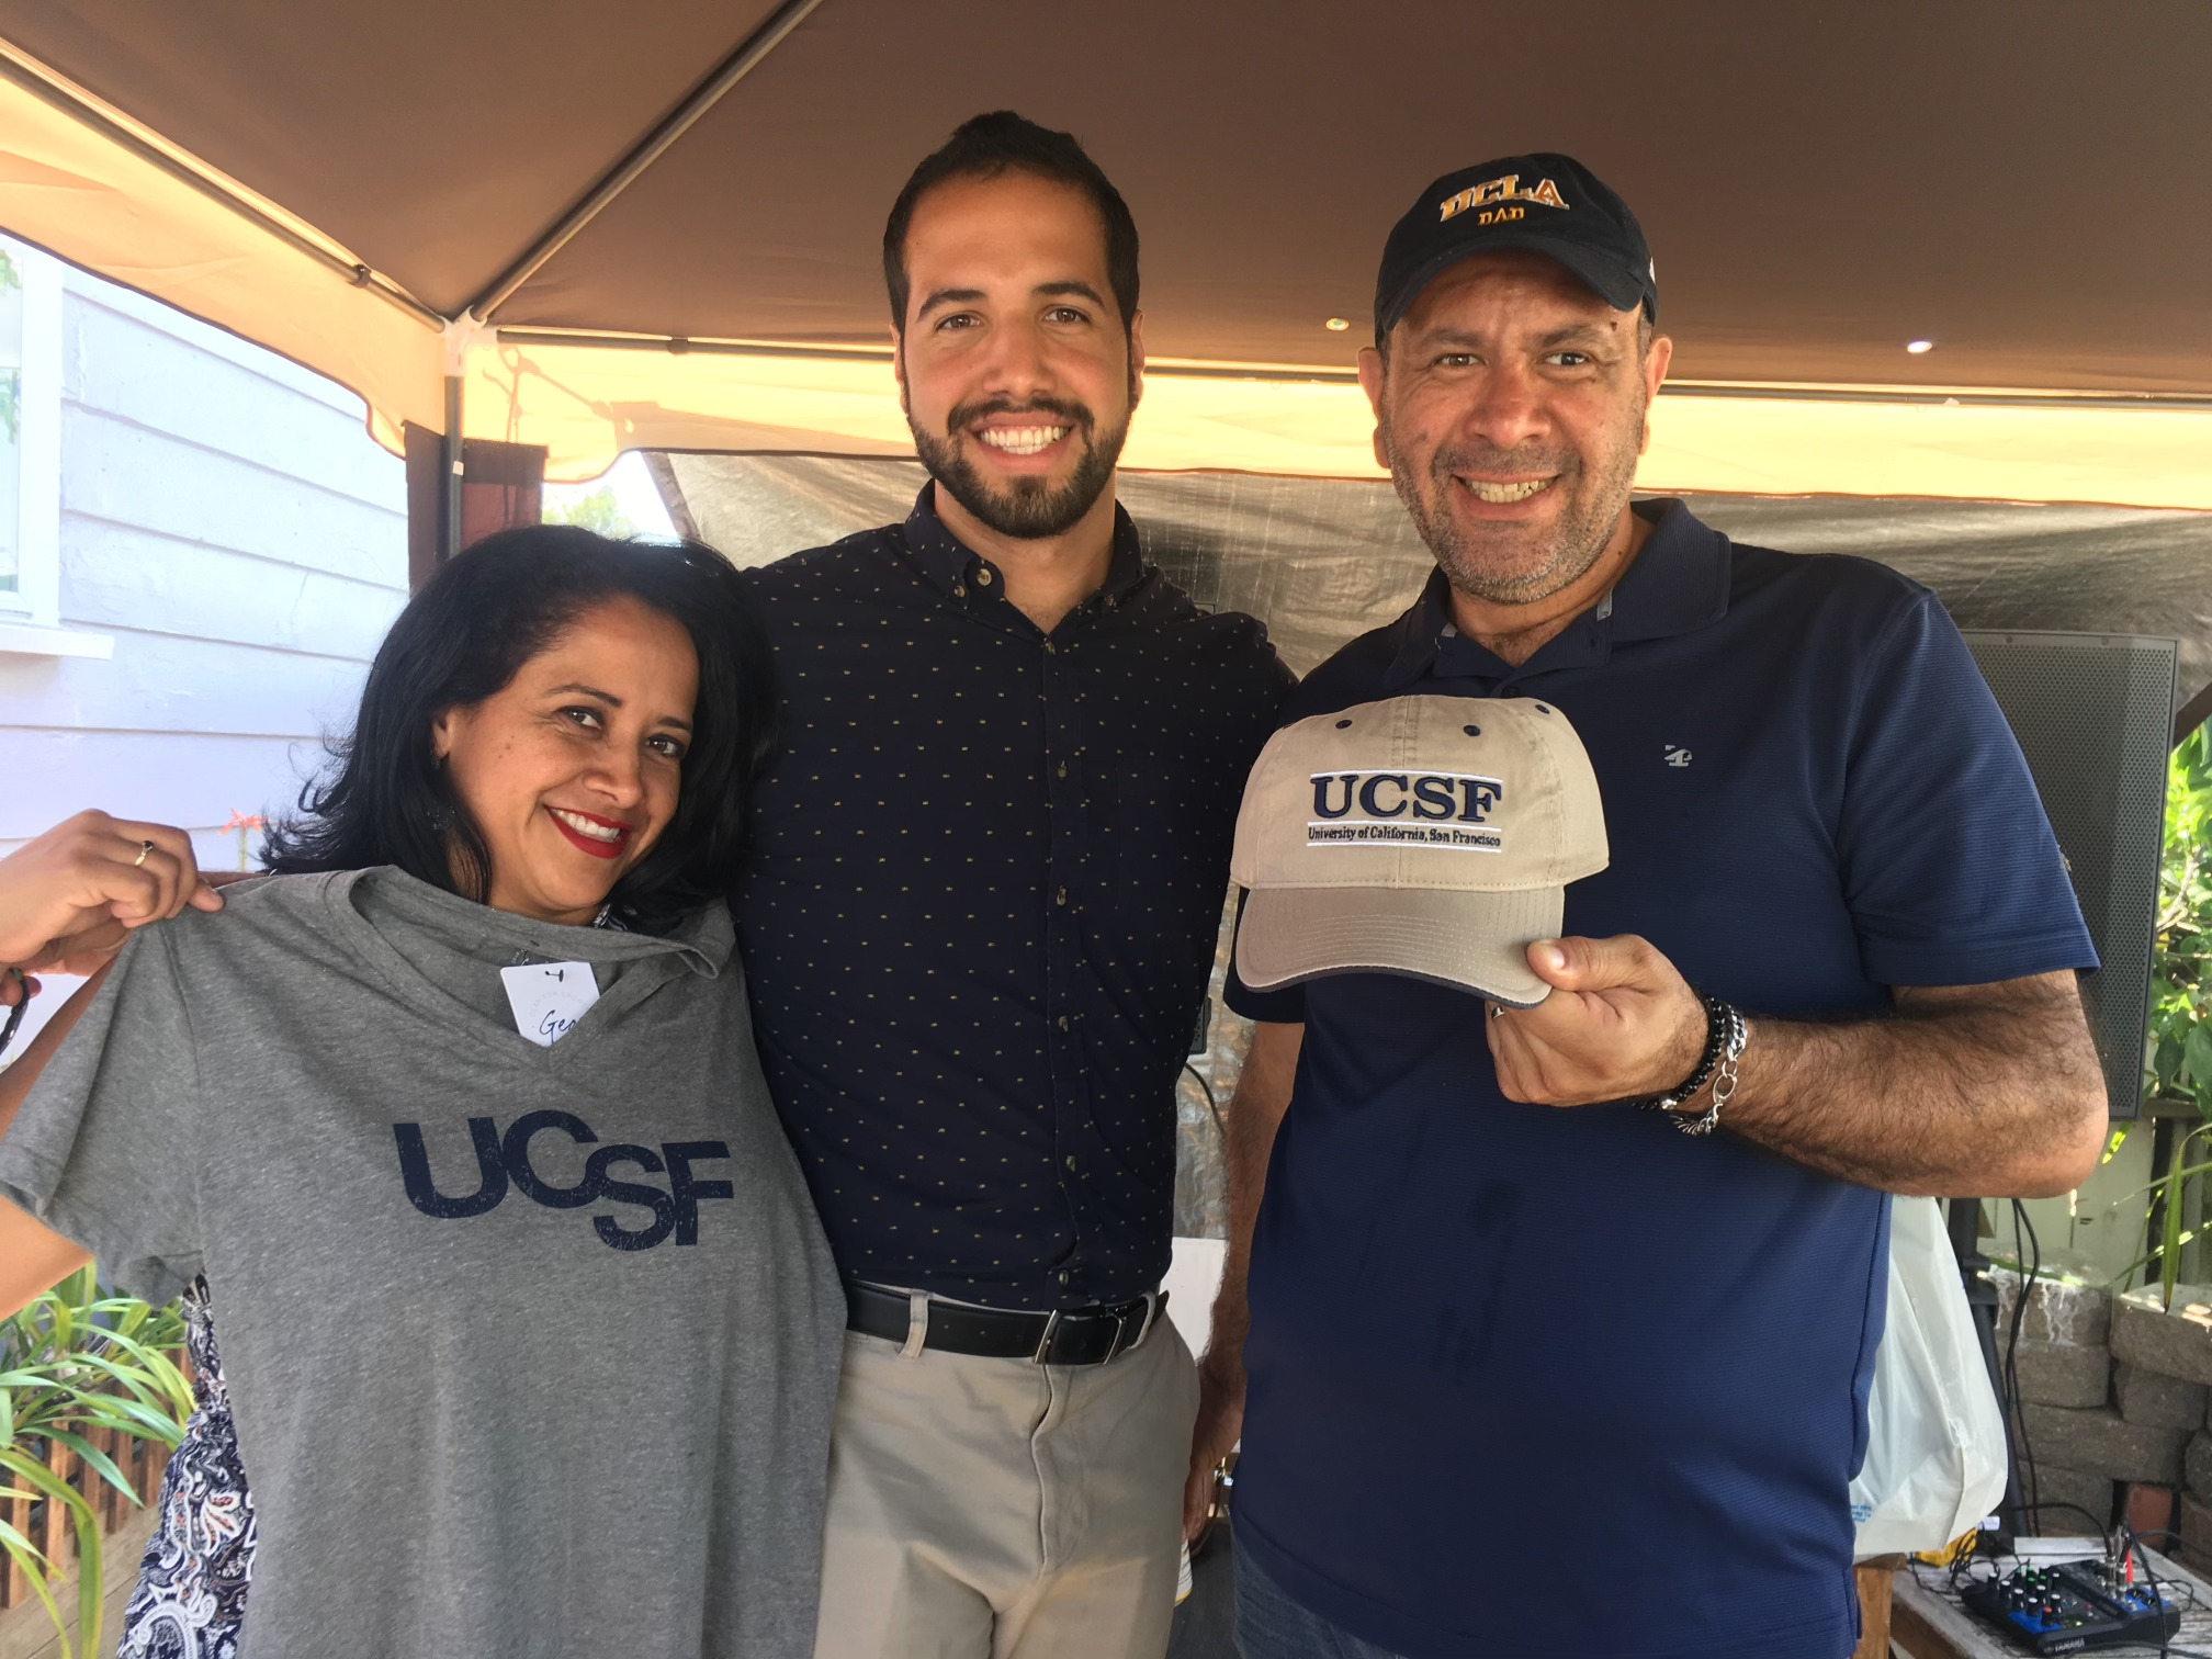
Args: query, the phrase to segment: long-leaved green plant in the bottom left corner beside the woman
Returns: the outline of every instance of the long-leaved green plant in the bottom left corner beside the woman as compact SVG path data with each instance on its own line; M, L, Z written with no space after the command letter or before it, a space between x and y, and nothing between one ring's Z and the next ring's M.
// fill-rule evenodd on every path
M0 1548L24 1571L62 1637L62 1659L100 1652L106 1575L100 1513L49 1467L53 1447L82 1458L91 1475L139 1502L122 1469L91 1442L113 1429L175 1447L192 1411L192 1389L170 1358L184 1347L184 1316L135 1296L102 1296L93 1270L71 1274L9 1321L0 1321L0 1500L60 1504L77 1540L77 1639L71 1644L53 1584L62 1562L0 1520Z

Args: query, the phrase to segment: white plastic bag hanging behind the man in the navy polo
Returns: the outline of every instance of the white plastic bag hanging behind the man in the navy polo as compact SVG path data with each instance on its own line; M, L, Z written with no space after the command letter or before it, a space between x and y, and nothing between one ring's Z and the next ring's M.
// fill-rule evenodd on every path
M2004 1416L1936 1199L1889 1201L1889 1323L1851 1480L1858 1559L1933 1551L2004 1498Z

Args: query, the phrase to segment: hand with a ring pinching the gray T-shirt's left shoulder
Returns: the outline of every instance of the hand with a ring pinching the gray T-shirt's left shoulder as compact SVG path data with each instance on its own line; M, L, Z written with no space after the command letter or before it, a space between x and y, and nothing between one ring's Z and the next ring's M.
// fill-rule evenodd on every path
M22 973L91 973L133 927L186 905L221 909L192 867L192 841L161 823L80 812L0 858L0 1006L29 995Z

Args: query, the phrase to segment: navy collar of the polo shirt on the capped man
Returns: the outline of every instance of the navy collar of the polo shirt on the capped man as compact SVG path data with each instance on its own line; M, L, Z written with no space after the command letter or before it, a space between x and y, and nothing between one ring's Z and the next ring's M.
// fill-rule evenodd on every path
M1398 619L1398 650L1385 684L1400 690L1425 672L1520 675L1544 668L1597 666L1613 646L1632 639L1668 639L1703 628L1728 615L1730 544L1719 531L1672 498L1635 502L1637 518L1652 526L1635 564L1595 606L1566 624L1517 670L1462 639L1451 624L1451 584L1431 571L1420 599Z

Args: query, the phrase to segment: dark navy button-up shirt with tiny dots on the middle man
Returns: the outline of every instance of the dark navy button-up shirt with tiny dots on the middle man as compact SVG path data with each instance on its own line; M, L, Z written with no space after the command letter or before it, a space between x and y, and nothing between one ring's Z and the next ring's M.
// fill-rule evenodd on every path
M1042 633L931 509L754 573L783 752L737 900L838 1267L991 1307L1168 1267L1175 1079L1245 772L1292 684L1115 513Z

